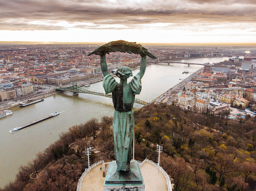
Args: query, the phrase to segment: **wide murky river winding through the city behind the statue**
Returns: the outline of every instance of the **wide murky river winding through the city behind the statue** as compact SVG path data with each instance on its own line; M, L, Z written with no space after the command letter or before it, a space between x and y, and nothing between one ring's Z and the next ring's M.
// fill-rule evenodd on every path
M178 62L220 62L227 57L187 59ZM151 101L157 96L177 84L181 79L200 69L200 65L186 64L152 64L147 67L142 78L142 91L136 98ZM182 74L188 70L188 74ZM139 70L134 70L135 75ZM131 78L130 78L131 79ZM129 81L129 80L128 80ZM86 89L104 92L102 82L92 84ZM142 105L134 104L134 109ZM59 138L59 134L67 131L70 126L87 121L92 117L113 115L112 100L96 95L79 93L73 96L72 92L64 92L46 97L27 107L13 107L12 115L0 119L0 187L14 180L20 165L25 165L35 158L36 153L43 151ZM56 117L37 123L21 131L10 133L12 128L34 121L43 116L60 111Z

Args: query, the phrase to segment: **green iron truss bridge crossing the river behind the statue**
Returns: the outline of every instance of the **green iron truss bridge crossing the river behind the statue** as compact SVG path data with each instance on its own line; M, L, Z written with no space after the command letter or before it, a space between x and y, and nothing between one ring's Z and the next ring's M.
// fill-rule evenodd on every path
M112 94L110 94L110 93L105 94L105 93L99 93L99 92L92 92L92 91L86 90L84 88L81 88L77 84L73 84L72 86L69 86L69 87L58 87L58 88L55 88L55 89L59 90L59 91L68 91L68 92L73 92L73 93L88 93L88 94L93 94L93 95L104 96L104 97L107 97L107 98L112 98ZM138 103L138 104L142 104L142 105L149 104L148 102L142 101L142 100L137 99L137 98L134 99L134 103Z

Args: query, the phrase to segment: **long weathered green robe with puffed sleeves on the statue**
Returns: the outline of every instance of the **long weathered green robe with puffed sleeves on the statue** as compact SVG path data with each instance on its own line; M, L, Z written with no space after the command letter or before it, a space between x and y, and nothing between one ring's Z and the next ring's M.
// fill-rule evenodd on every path
M132 142L134 131L134 118L132 107L136 94L140 94L141 81L137 74L129 83L117 83L110 75L103 80L103 87L106 92L112 93L114 103L113 133L114 148L117 164L117 171L130 170L132 160Z

